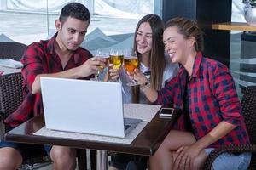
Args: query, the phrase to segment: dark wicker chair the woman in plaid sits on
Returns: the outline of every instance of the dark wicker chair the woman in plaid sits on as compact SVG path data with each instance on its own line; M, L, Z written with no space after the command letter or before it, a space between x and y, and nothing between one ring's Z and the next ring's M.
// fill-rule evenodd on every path
M217 158L217 156L224 152L251 152L252 160L249 169L256 169L256 86L250 86L244 89L244 95L241 99L241 106L241 112L245 119L251 144L222 146L217 150L213 150L211 154L207 156L204 169L210 170L213 161Z

